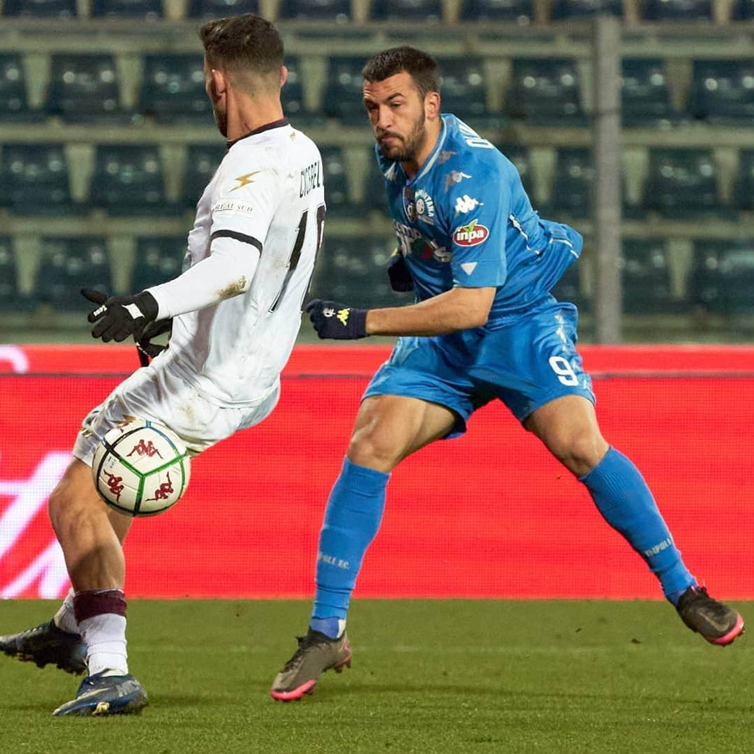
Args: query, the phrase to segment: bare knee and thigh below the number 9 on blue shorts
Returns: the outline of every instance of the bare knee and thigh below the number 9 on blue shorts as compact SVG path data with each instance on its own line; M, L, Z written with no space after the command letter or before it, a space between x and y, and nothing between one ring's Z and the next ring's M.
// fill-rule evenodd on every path
M566 395L535 410L524 427L577 477L588 474L608 451L594 405L581 395Z

